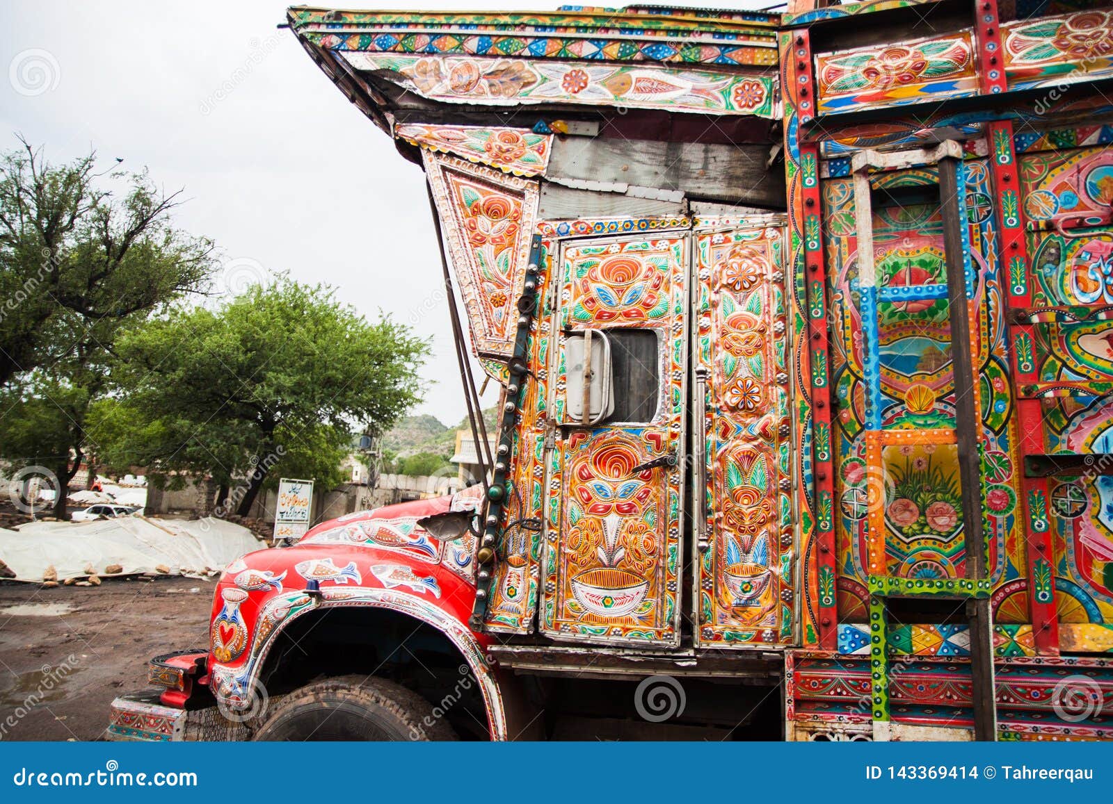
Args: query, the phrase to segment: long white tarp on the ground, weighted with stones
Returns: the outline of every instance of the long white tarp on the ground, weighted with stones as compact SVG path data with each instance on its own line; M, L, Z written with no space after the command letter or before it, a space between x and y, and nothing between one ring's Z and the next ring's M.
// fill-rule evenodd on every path
M140 516L96 522L32 522L19 530L0 528L0 562L17 580L42 580L53 566L58 579L99 575L111 564L122 574L155 573L164 565L173 575L224 569L245 553L266 547L246 527L214 519L147 519Z

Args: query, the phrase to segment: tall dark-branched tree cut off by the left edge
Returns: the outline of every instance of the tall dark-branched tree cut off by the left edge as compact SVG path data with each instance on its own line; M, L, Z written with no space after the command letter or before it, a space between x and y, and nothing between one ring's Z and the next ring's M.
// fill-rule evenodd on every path
M214 246L173 226L177 193L146 172L98 173L95 155L52 166L22 145L0 156L0 457L50 469L67 518L119 331L203 291Z

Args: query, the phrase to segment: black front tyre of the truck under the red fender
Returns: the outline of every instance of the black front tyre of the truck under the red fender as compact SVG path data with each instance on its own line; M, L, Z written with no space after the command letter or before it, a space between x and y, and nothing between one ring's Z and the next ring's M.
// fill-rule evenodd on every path
M416 693L384 678L323 678L283 698L254 740L451 741L452 726Z

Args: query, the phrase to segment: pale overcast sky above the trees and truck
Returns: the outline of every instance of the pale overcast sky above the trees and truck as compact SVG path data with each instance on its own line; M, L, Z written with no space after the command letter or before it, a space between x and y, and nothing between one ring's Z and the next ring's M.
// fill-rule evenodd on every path
M382 4L427 8L414 0ZM551 10L559 1L432 4ZM125 168L148 167L168 190L185 189L178 225L219 245L224 287L285 270L335 286L368 318L382 310L432 336L430 389L416 413L454 424L466 408L422 171L348 103L289 31L277 30L285 8L244 0L6 0L0 147L14 146L20 132L55 161L93 148L106 166L122 158Z

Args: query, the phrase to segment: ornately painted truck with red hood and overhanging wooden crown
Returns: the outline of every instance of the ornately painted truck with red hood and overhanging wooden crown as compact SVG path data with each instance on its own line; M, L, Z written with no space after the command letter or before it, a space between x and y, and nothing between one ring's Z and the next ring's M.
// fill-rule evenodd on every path
M1113 737L1111 14L289 9L481 470L235 562L109 734Z

